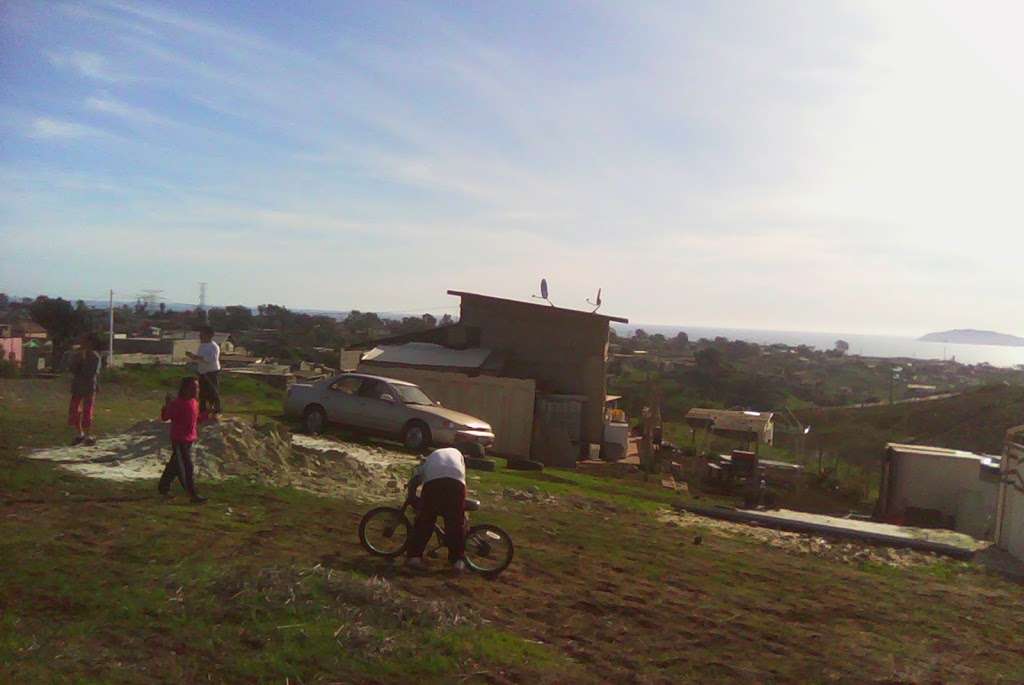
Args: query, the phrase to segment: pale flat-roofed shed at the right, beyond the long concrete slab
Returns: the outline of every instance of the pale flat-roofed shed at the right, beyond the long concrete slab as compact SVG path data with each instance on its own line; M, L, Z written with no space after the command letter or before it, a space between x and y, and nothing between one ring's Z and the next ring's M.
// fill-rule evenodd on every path
M920 444L886 445L877 519L992 540L1000 458Z

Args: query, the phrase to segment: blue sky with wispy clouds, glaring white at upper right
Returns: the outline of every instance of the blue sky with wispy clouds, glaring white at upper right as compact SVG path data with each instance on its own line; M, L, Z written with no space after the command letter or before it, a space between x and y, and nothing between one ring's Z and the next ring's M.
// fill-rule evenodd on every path
M1024 334L1021 3L0 13L0 292Z

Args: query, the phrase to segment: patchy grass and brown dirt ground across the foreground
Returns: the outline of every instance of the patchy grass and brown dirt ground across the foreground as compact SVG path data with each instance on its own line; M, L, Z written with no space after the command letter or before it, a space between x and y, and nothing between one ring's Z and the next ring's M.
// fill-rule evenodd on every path
M154 416L173 381L112 379L100 433ZM254 388L225 395L280 412ZM818 553L666 519L677 496L659 483L499 469L469 487L474 520L515 539L508 571L411 573L361 550L368 505L349 498L236 478L196 508L19 458L65 441L66 401L62 379L0 379L0 682L1024 679L1021 647L993 639L1024 590L973 564Z

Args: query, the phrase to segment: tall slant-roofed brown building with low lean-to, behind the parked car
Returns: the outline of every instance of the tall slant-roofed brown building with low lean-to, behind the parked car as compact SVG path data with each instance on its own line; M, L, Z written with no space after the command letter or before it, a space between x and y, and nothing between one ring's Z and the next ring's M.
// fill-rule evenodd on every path
M367 350L359 370L419 383L489 422L499 454L568 466L603 442L609 324L627 319L449 294L462 301L457 324L354 345ZM342 366L353 360L343 354Z

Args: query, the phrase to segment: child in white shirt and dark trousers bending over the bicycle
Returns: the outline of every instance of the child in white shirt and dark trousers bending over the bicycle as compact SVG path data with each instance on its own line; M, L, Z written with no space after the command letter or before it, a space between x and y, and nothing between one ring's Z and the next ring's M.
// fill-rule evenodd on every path
M434 449L413 472L409 481L409 501L416 506L416 523L406 552L406 563L413 567L423 566L423 551L434 531L438 516L444 517L444 544L449 548L452 567L462 572L466 568L466 460L482 457L478 444L460 444L456 447ZM416 488L423 488L419 500Z

